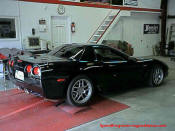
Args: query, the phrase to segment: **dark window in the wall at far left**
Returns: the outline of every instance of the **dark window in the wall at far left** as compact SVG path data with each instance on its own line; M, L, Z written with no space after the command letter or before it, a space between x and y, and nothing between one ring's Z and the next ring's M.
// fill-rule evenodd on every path
M0 39L15 39L15 18L0 18Z

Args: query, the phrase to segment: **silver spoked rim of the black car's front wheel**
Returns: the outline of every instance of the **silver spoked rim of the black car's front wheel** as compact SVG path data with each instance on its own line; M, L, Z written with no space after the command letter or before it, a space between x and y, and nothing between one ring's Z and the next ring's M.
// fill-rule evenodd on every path
M161 84L164 78L164 73L161 68L156 68L153 73L153 81L156 85Z

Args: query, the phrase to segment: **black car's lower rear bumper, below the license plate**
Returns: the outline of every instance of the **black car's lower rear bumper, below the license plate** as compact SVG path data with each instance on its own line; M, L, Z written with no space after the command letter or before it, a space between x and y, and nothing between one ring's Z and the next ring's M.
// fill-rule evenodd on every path
M10 80L21 89L36 96L42 96L48 99L58 99L65 97L65 83L53 83L52 79L21 81L10 76Z

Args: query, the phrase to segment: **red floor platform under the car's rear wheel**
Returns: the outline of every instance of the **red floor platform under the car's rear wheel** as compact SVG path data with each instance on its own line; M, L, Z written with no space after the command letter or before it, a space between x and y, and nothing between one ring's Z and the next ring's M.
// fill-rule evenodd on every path
M81 108L67 104L55 107L56 103L24 93L3 96L0 99L1 131L63 131L129 108L100 96Z

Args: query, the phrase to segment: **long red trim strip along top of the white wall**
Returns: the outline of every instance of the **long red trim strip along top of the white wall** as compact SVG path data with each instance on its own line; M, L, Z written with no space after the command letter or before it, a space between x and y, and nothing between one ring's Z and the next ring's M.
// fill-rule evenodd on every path
M84 2L70 2L70 1L59 1L59 0L18 0L26 2L38 2L38 3L49 3L49 4L63 4L72 6L83 6L83 7L95 7L95 8L106 8L106 9L120 9L130 11L147 11L147 12L161 12L161 9L149 9L149 8L137 8L137 7L126 7L126 6L112 6L112 5L100 5L94 3Z

